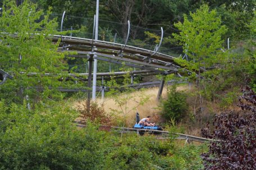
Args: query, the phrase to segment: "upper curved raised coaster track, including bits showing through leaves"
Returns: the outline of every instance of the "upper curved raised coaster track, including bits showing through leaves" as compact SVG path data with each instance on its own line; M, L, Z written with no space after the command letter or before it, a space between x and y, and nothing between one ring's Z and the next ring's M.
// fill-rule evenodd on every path
M9 34L8 32L1 32L0 34L7 34L12 37L17 37L17 33ZM41 34L30 34L33 35L41 35ZM44 35L45 36L45 35ZM175 63L175 57L163 53L158 53L156 51L147 50L143 48L138 48L135 46L112 43L108 41L100 41L93 39L85 39L81 37L73 37L73 36L62 36L62 35L47 35L47 39L52 40L53 43L58 42L60 39L60 46L58 51L76 51L78 54L85 54L89 56L93 56L94 53L99 56L104 56L105 58L95 58L99 60L103 60L106 62L113 62L117 64L122 64L120 61L123 61L127 66L136 67L140 69L152 70L155 72L159 72L162 74L170 74L170 72L177 72L180 68L182 68L179 64ZM93 48L92 48L93 44ZM124 48L125 47L125 48ZM74 50L72 50L72 48ZM118 51L122 50L122 54L119 54ZM81 51L80 51L81 50ZM100 51L105 50L105 51ZM107 50L107 51L106 51ZM76 55L73 57L79 57ZM154 54L154 55L153 55ZM89 58L88 56L88 58ZM83 56L85 58L85 56ZM135 63L135 64L129 64ZM142 67L139 66L143 65ZM156 69L157 68L157 69ZM166 69L159 70L160 68ZM202 71L205 71L203 68L200 68ZM189 70L186 70L190 72Z

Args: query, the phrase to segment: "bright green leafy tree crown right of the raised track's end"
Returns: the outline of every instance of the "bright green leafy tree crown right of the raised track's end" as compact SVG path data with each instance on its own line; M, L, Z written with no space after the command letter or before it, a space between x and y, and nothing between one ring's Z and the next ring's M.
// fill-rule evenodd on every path
M191 62L195 61L198 68L202 63L207 68L220 62L218 53L222 48L221 38L227 29L221 25L216 10L209 11L209 7L204 4L195 13L190 13L190 17L191 20L184 15L184 22L175 24L180 34L173 34L183 45L184 53L194 59Z

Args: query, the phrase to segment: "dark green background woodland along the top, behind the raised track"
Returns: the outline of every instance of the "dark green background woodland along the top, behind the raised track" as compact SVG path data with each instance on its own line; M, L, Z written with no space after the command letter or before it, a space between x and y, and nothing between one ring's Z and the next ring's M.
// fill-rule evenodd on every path
M93 16L95 14L95 1L89 0L31 0L38 3L38 7L47 11L49 7L53 8L53 13L58 17L58 23L61 22L62 13L66 11L64 18L63 29L80 29L81 26L88 26L90 31L85 34L92 33ZM20 4L22 1L17 0ZM0 2L1 5L2 2ZM226 37L231 40L243 40L249 37L248 23L252 20L253 11L255 10L255 0L239 0L239 1L224 1L224 0L127 0L99 1L99 18L111 22L127 23L130 20L132 25L139 27L147 27L149 29L158 30L159 26L164 27L165 37L173 32L173 23L183 21L183 14L189 15L189 12L195 12L202 4L207 3L211 9L216 9L218 16L222 18L223 24L228 27ZM83 5L81 5L83 4ZM141 4L144 4L141 5ZM76 16L76 17L70 17ZM88 20L88 18L90 18ZM112 34L124 37L126 35L126 25L113 26L111 22L99 22L100 27L111 27ZM89 24L88 24L89 23ZM114 23L116 24L116 23ZM167 33L167 34L166 34ZM83 36L85 36L83 34ZM144 31L138 27L132 27L131 38L144 38ZM142 39L141 39L142 37Z

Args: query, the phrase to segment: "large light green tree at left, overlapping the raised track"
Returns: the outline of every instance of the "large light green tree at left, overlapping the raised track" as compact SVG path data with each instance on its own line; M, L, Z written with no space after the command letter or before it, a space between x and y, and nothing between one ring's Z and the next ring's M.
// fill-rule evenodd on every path
M36 94L39 93L35 88L42 90L44 97L63 97L54 88L65 86L65 83L58 81L65 78L65 55L57 51L60 42L53 44L48 39L57 26L56 20L49 19L50 15L51 11L44 15L30 1L24 1L20 6L15 1L3 1L0 17L0 65L14 79L1 86L0 98L21 102L25 95L29 95L36 99ZM30 72L37 74L31 77L28 76ZM62 75L45 77L44 73Z

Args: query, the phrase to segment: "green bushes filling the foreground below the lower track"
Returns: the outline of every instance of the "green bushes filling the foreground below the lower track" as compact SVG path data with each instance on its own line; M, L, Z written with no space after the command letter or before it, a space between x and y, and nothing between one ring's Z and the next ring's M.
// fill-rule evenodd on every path
M177 145L150 135L100 131L66 102L35 110L0 102L0 169L200 169L201 147Z

